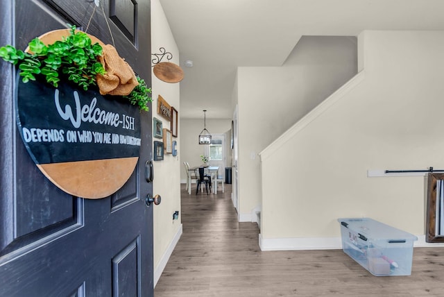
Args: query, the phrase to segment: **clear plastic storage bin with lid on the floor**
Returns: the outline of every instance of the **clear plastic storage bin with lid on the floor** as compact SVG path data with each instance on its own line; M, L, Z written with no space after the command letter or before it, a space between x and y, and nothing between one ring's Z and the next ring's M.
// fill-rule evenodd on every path
M369 218L338 219L344 253L377 276L411 275L418 237Z

